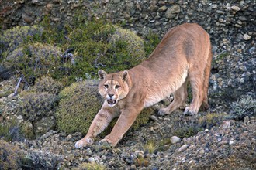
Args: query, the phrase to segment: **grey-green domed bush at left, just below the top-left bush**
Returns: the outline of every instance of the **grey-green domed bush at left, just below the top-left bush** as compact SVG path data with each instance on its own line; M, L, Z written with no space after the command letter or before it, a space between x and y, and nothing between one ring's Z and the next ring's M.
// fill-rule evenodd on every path
M15 49L3 62L7 68L22 73L26 79L58 73L61 49L47 44L33 43Z

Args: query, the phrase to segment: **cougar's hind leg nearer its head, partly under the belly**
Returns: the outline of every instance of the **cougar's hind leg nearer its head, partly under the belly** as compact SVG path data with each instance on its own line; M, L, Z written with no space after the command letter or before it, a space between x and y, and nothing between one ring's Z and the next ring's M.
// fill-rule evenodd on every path
M161 108L158 114L171 114L171 112L185 104L185 100L188 97L187 84L188 80L186 80L185 83L182 84L182 87L175 91L174 100L171 102L171 104L168 107Z

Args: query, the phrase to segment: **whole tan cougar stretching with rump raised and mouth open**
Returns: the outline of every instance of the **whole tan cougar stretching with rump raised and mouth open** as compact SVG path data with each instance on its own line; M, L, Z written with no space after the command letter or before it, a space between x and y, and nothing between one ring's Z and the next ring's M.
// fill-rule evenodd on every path
M208 108L207 90L212 60L209 35L197 24L170 29L148 59L128 71L107 74L99 70L99 93L106 98L85 138L75 146L91 144L114 117L119 119L102 143L115 146L144 107L156 104L174 93L173 102L161 108L170 114L185 103L187 83L192 87L192 103L185 114L197 114ZM111 97L110 97L111 96Z

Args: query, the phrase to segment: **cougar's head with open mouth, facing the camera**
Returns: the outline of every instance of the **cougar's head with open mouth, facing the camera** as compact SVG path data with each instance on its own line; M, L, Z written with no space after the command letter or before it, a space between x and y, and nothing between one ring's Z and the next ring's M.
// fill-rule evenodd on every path
M129 93L128 71L107 74L104 70L99 70L99 93L104 97L110 107L117 104Z

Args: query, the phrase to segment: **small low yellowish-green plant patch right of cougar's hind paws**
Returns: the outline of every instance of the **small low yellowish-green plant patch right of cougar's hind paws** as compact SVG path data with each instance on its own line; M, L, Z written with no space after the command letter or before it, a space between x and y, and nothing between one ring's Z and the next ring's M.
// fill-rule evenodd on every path
M208 113L206 116L199 117L199 126L212 128L213 126L221 124L225 119L227 119L226 113Z

